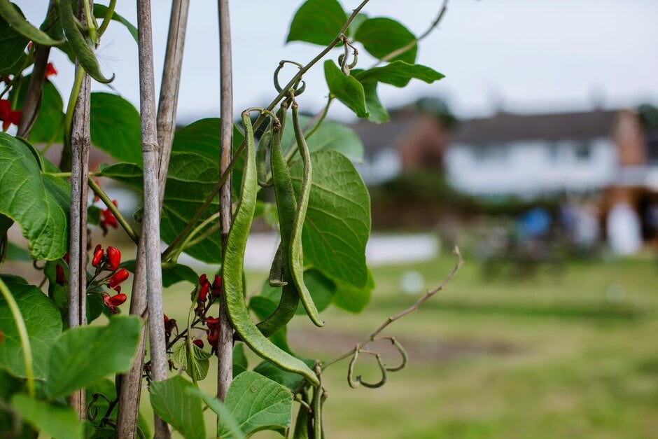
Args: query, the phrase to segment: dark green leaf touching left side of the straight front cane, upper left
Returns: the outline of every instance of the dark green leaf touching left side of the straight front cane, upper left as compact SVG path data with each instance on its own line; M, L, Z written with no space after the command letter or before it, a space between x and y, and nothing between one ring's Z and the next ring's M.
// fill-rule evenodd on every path
M123 97L92 93L90 134L92 144L113 158L141 164L139 112Z

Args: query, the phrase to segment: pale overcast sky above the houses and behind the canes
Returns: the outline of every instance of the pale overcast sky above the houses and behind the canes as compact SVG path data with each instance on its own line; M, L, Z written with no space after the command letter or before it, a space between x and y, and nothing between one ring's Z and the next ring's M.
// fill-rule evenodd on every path
M41 23L47 0L15 0L28 20ZM341 0L346 9L358 0ZM371 0L370 17L390 16L421 34L435 17L440 0ZM263 106L276 95L272 71L279 60L306 63L321 47L285 44L293 14L302 1L230 1L235 110ZM171 3L153 0L155 76L159 82ZM134 1L118 1L117 11L133 23ZM658 103L658 1L656 0L451 0L440 27L419 48L420 64L446 75L428 85L412 81L405 89L379 86L387 106L422 96L447 99L460 117L496 109L519 112L568 111L594 105L615 108ZM330 56L337 57L339 50ZM137 46L113 22L98 50L102 70L116 73L113 88L137 106ZM64 99L73 67L53 51L59 70L54 82ZM359 56L359 67L372 60ZM183 61L179 121L218 116L218 36L216 1L190 5ZM291 71L293 74L294 72ZM327 86L321 63L305 76L300 107L317 111ZM94 85L107 90L105 85ZM342 104L330 115L349 119Z

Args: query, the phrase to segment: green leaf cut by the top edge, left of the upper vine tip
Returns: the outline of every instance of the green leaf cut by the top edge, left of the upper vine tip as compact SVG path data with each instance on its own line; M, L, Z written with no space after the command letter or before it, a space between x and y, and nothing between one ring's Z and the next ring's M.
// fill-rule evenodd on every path
M288 32L289 41L327 46L346 22L345 11L336 0L307 0L297 9Z

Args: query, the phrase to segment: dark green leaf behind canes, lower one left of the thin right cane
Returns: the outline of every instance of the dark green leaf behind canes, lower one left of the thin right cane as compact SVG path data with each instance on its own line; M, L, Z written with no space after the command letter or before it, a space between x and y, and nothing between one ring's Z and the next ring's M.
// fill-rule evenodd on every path
M143 185L142 171L137 165L118 163L102 168L103 176L122 181L128 186L141 190ZM207 195L214 188L219 178L217 162L209 160L197 153L172 153L167 174L165 189L165 204L162 209L160 232L165 242L172 242L196 211L202 206ZM219 200L213 202L201 216L204 221L219 210ZM212 224L216 224L218 220ZM209 225L208 227L211 227ZM186 250L190 256L206 263L221 263L221 241L218 233L214 233L199 244Z

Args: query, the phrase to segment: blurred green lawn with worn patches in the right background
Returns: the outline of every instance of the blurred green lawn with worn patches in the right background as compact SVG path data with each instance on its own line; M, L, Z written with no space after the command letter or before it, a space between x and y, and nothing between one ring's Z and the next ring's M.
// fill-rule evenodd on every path
M377 289L363 314L330 307L324 328L297 318L290 344L323 360L348 351L418 298L400 293L402 273L416 270L432 288L453 265L442 256L376 268ZM467 260L445 291L386 330L405 344L410 361L385 386L350 389L346 362L326 370L329 437L655 438L657 269L649 259L583 262L535 277L485 279ZM250 289L262 276L249 275ZM623 291L623 300L608 301L610 291ZM168 295L167 314L189 300L180 291ZM384 342L372 349L397 363ZM379 379L374 362L363 360L357 374ZM214 385L204 382L207 391Z

